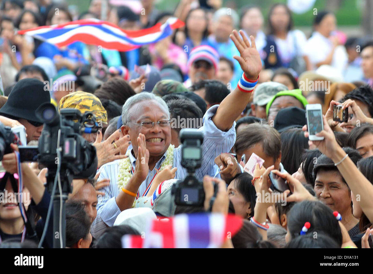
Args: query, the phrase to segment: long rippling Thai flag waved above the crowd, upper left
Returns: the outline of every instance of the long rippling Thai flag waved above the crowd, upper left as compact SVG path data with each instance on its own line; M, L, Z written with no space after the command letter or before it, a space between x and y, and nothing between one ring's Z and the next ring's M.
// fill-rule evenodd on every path
M57 47L65 47L80 41L109 50L129 51L145 44L160 41L171 35L173 29L182 26L184 26L184 22L172 17L163 25L157 23L151 28L126 31L109 22L84 19L60 25L40 26L18 31L18 34L27 34Z

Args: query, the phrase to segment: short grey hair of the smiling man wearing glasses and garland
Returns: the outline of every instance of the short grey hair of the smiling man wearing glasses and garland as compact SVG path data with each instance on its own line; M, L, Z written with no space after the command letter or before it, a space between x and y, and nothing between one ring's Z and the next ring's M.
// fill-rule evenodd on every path
M124 126L128 126L131 122L131 108L142 101L155 101L164 113L167 114L167 117L170 118L170 111L166 102L161 97L150 92L141 92L129 97L122 106L122 123Z

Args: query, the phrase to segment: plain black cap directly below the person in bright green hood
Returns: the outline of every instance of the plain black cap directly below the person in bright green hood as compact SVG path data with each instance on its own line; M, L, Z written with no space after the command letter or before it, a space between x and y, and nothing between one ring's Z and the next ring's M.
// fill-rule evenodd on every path
M299 107L286 107L279 110L274 127L281 133L291 128L302 128L305 124L307 124L305 110Z

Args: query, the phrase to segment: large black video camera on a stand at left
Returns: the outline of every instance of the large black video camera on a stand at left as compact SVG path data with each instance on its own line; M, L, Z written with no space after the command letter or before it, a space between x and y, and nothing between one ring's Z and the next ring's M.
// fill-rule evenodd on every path
M37 108L35 115L44 122L38 142L38 162L48 168L49 179L53 181L52 174L56 174L57 164L61 165L61 176L68 182L94 177L97 171L96 149L81 136L83 132L97 132L93 113L87 111L82 115L77 109L63 108L59 114L54 105L44 103ZM71 183L64 186L63 192L72 191Z

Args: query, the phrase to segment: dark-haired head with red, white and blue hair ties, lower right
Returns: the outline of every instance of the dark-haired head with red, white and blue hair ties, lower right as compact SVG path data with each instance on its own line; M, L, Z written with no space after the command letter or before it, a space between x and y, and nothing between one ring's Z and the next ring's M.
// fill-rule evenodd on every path
M286 216L288 219L288 233L285 236L287 243L298 236L302 237L302 229L308 222L310 227L305 232L305 236L314 236L314 232L317 234L324 233L335 240L338 247L341 248L343 240L341 227L333 215L333 211L323 203L319 201L298 202Z

